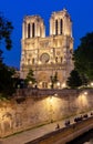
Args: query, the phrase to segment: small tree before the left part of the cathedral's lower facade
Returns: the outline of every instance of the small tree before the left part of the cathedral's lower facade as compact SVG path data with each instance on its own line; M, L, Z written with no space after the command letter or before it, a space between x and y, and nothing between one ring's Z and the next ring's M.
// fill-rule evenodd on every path
M33 85L34 83L37 83L32 69L29 70L29 73L28 73L28 75L27 75L27 78L25 78L25 83L27 83L27 84L30 84L30 83L31 83L32 85Z

